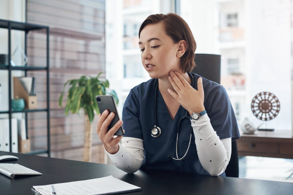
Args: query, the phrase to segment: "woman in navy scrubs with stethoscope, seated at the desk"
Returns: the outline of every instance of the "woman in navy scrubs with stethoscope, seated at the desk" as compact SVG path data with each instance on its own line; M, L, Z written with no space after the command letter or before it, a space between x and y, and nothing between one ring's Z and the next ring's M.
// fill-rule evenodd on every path
M121 120L107 132L114 113L99 115L97 133L111 160L128 173L147 168L225 176L238 126L224 87L189 73L196 43L187 23L172 13L150 15L139 29L139 47L152 79L125 101L124 137L113 137Z

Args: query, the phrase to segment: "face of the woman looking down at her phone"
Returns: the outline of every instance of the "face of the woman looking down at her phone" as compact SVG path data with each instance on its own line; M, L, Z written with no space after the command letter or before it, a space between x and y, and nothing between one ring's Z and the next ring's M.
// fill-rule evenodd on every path
M178 44L174 44L161 23L145 26L139 38L142 65L151 78L168 78L169 71L180 70Z

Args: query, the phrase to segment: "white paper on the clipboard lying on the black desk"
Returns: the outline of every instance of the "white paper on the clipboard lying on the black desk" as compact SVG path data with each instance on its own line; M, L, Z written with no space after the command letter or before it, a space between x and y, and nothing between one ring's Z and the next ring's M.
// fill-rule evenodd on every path
M97 194L118 194L131 191L140 191L141 188L112 175L91 180L53 184L56 194L62 195L97 195ZM42 194L41 191L52 192L52 184L33 186L33 190Z

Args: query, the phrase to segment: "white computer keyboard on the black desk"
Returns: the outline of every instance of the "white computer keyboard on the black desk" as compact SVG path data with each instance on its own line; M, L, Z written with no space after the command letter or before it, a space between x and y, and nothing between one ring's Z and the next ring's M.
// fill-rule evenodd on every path
M43 175L40 172L13 163L0 163L0 173L13 179L15 175Z

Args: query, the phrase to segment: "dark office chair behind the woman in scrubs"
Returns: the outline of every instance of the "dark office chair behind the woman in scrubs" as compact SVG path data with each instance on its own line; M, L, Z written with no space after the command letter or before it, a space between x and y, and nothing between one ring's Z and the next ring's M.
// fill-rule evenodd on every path
M221 81L221 55L195 54L196 67L191 71L208 80L220 84ZM236 140L232 141L230 162L225 170L227 177L239 177L239 159Z

